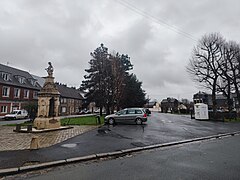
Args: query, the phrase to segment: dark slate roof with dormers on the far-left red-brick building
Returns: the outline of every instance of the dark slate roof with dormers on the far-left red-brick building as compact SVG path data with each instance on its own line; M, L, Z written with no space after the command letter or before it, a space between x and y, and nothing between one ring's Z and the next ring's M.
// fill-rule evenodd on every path
M40 89L40 86L39 86L38 83L36 83L35 85L31 84L30 80L35 80L36 81L36 79L34 79L30 75L30 73L28 73L27 71L23 71L23 70L20 70L20 69L16 69L16 68L13 68L13 67L10 67L10 66L0 64L0 74L2 72L9 74L9 77L10 77L8 81L5 81L2 78L2 76L0 75L0 83L2 83L2 84L18 86L18 87L23 87L23 88L37 89L37 90ZM17 79L18 77L25 78L26 79L25 82L23 84L21 84Z

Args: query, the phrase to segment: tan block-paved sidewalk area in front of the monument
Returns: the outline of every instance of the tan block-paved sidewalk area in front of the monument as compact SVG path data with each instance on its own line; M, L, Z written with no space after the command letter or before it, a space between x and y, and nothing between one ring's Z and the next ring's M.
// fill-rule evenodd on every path
M46 133L17 133L15 127L0 126L0 151L29 149L33 136L38 136L40 148L49 147L95 129L97 126L72 126L71 129Z

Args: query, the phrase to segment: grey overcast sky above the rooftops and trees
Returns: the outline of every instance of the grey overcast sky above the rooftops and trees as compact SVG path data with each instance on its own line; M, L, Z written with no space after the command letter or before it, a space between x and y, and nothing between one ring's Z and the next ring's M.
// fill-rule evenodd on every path
M204 34L240 42L239 0L0 0L0 63L79 87L103 43L128 54L151 99L192 98L186 65Z

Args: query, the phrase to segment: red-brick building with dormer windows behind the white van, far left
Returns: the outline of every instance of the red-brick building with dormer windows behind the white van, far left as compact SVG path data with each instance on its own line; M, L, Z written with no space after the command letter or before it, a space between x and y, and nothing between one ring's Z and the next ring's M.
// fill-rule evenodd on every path
M41 86L28 72L0 64L0 116L37 102Z

